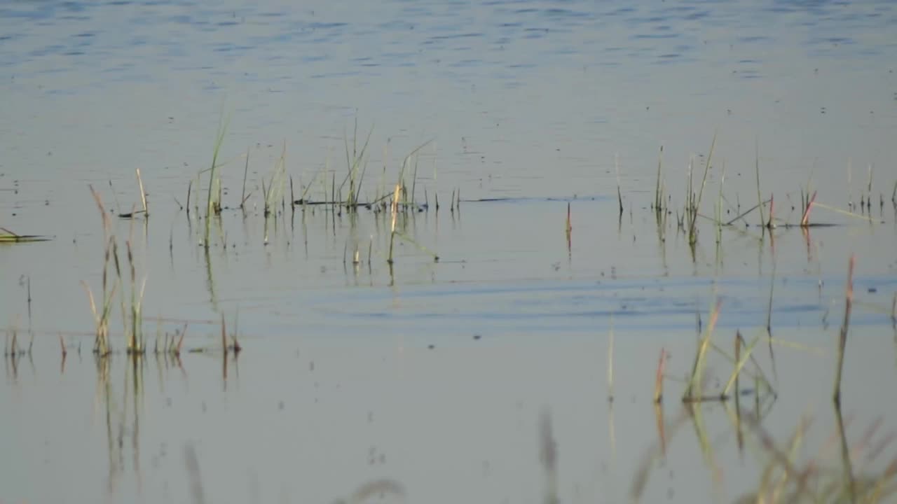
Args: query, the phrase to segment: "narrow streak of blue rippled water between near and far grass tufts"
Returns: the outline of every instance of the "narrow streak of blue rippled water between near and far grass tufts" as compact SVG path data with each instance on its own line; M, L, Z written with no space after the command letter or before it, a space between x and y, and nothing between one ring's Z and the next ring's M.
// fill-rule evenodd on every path
M776 280L771 306L771 328L818 332L823 340L833 335L843 316L843 285L830 279L824 288L807 278ZM858 278L857 305L850 326L856 337L890 323L883 308L887 295L877 296L861 287L873 279ZM884 292L893 291L897 277L875 279ZM592 282L446 283L408 286L396 290L361 289L348 292L318 291L303 305L339 320L335 326L358 327L343 334L355 338L386 336L401 331L415 340L434 338L463 341L471 335L538 338L550 334L579 336L605 334L612 327L633 335L678 335L687 346L697 333L698 320L709 323L710 310L720 303L717 328L727 338L740 330L753 335L764 330L769 309L768 279L606 279ZM298 300L297 300L298 301ZM278 309L288 313L299 307L291 302ZM867 308L860 308L866 306ZM251 316L250 316L251 317ZM257 324L268 326L264 321ZM281 332L274 322L272 332ZM312 334L315 325L309 329ZM327 337L337 337L328 335ZM458 340L460 338L460 340ZM829 337L828 339L831 339Z

